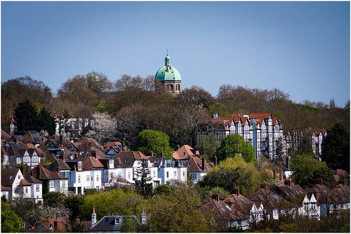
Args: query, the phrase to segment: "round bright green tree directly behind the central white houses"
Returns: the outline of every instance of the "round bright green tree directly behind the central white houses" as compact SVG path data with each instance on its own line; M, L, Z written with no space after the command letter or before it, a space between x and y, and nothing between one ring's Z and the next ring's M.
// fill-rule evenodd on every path
M162 131L146 129L139 133L137 150L148 155L150 150L157 156L172 158L174 150L170 147L170 137Z

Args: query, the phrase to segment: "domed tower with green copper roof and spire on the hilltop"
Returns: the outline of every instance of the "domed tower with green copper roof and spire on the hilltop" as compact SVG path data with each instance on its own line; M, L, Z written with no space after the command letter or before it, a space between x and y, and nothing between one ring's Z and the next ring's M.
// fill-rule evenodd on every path
M180 73L175 67L170 65L170 56L165 58L165 65L155 74L155 86L157 89L163 89L166 93L179 94L181 89ZM159 82L159 83L158 83ZM160 84L160 87L158 87Z

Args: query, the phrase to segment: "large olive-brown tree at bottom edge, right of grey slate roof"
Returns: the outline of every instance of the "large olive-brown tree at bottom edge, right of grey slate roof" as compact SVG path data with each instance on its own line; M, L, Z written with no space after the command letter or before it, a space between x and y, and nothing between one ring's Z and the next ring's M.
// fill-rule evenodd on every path
M172 194L158 194L148 200L148 225L153 233L206 233L210 231L208 216L195 188L176 183Z

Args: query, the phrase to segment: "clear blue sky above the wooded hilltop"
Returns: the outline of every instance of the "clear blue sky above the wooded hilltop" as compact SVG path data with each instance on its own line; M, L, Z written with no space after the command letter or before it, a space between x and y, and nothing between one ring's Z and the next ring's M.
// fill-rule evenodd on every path
M53 93L77 74L146 77L165 64L182 88L281 89L344 107L350 99L350 3L1 2L1 82L28 75Z

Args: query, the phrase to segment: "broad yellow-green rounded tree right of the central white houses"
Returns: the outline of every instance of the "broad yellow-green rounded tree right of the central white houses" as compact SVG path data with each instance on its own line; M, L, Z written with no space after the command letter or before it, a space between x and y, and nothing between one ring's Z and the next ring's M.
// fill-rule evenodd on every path
M260 172L253 162L246 162L243 157L236 155L219 162L198 184L201 187L221 187L230 193L239 188L241 194L248 196L259 188L260 178Z

